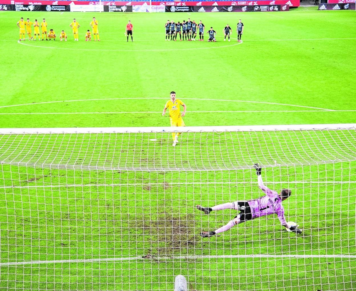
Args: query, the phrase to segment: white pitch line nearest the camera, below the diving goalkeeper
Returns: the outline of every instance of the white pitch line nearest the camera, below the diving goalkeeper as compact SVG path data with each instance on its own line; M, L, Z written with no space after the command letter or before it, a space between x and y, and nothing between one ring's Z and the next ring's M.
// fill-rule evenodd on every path
M63 263L96 263L96 262L122 262L122 261L138 261L138 260L204 260L204 259L248 259L248 258L260 258L260 259L311 259L311 258L331 258L331 259L356 259L356 255L215 255L215 256L151 256L150 258L144 258L145 256L124 257L124 258L102 258L102 259L77 259L77 260L49 260L49 261L24 261L24 262L8 262L0 263L0 266L23 266L23 265L37 265L37 264L63 264Z

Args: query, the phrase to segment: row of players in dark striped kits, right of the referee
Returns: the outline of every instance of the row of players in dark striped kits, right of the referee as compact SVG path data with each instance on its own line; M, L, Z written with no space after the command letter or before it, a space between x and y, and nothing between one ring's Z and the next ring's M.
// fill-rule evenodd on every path
M197 37L197 30L199 30L199 41L204 41L205 26L201 22L201 20L199 21L198 24L195 22L195 20L190 21L190 18L188 18L187 22L183 20L182 23L180 23L179 21L175 23L173 20L172 21L167 20L167 23L164 25L164 27L166 28L166 41L167 40L176 41L178 34L179 34L180 41L184 40L184 37L186 41L195 41L195 37ZM232 31L231 27L227 24L223 29L224 36L225 36L224 41L226 41L226 36L230 41L231 31ZM241 22L241 19L237 24L236 31L237 31L237 41L241 42L241 35L242 32L244 31L244 24ZM216 41L215 38L216 31L213 29L213 27L210 27L210 30L208 30L206 33L209 33L208 42Z

